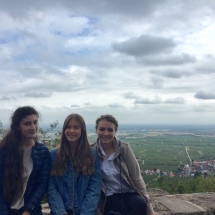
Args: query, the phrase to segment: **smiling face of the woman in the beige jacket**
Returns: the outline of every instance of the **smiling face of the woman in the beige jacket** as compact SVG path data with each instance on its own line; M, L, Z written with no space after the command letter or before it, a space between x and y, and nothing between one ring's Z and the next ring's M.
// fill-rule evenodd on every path
M112 144L116 134L116 128L112 122L101 120L98 123L96 133L98 134L101 145Z

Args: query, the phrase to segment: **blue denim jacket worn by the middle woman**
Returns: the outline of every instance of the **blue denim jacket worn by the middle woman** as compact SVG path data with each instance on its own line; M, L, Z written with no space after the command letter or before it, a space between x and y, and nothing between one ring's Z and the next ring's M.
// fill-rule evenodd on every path
M54 164L57 148L50 153ZM95 151L92 154L95 161L92 175L75 173L70 160L63 176L50 176L47 197L52 214L63 215L67 213L66 210L73 210L74 215L95 215L102 177L99 158Z

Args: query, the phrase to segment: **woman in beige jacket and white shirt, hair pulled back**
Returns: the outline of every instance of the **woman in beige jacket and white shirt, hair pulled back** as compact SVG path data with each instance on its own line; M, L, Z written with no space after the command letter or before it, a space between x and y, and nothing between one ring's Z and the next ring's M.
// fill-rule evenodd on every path
M103 179L97 215L156 215L129 144L115 137L117 128L112 115L96 120L98 139L92 148L100 157Z

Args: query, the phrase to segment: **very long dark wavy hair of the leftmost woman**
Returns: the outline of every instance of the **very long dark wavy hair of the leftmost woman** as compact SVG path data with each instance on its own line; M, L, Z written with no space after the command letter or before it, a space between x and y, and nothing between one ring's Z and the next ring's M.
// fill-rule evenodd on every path
M0 153L4 156L3 197L8 203L21 197L23 193L23 153L21 150L20 121L39 113L30 106L19 107L11 117L11 125L0 142Z

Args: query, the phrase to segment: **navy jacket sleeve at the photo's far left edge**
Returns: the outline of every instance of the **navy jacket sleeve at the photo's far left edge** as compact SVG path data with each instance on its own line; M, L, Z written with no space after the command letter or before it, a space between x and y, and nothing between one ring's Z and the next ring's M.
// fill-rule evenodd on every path
M8 215L7 204L3 198L4 155L0 150L0 214Z

